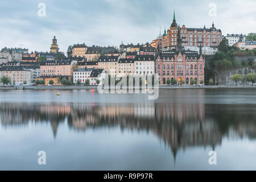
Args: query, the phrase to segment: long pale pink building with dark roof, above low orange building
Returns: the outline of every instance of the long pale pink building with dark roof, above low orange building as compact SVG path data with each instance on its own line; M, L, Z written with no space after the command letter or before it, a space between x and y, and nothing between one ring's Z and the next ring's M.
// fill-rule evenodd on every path
M55 60L40 63L40 76L72 76L72 65L74 61Z

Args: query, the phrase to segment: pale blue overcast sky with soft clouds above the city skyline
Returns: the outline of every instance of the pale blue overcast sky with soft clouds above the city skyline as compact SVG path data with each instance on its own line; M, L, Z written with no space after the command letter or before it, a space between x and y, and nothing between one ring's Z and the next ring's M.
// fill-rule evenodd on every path
M46 16L39 16L46 5ZM216 5L216 11L210 4ZM159 29L176 22L188 28L209 28L212 22L222 35L256 30L255 0L2 0L0 48L22 47L49 51L55 35L61 52L68 46L116 46L121 42L152 42ZM216 15L211 12L216 12Z

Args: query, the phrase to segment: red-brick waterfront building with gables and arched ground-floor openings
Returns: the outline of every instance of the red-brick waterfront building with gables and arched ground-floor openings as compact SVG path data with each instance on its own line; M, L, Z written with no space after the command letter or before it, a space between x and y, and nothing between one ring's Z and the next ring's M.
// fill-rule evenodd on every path
M201 52L201 51L200 51ZM172 51L158 52L155 56L155 71L159 75L159 84L167 84L167 79L177 80L187 85L192 84L192 78L196 84L204 80L205 60L202 53L186 51L183 47Z

